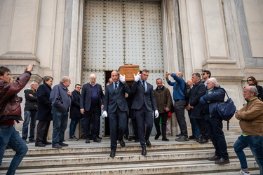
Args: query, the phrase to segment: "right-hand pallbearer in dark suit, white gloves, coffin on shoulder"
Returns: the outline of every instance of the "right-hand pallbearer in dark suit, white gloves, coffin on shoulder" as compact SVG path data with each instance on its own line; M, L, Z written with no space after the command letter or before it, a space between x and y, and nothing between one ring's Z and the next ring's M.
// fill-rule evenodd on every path
M146 69L142 70L141 74L137 73L136 76L134 75L133 85L130 87L130 91L133 94L133 104L131 108L135 110L142 155L147 155L146 145L151 146L149 137L154 123L152 111L155 111L156 118L159 116L154 98L154 87L146 82L148 76L149 71ZM147 125L146 132L145 124Z

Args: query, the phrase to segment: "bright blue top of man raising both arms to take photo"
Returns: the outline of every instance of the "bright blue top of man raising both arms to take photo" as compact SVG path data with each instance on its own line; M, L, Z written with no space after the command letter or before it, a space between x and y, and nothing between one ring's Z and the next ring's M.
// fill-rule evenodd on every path
M184 79L180 78L179 76L172 73L171 76L175 80L174 82L168 81L168 85L173 86L173 99L185 99L184 98L184 88L185 88L185 81ZM180 88L180 87L181 88Z

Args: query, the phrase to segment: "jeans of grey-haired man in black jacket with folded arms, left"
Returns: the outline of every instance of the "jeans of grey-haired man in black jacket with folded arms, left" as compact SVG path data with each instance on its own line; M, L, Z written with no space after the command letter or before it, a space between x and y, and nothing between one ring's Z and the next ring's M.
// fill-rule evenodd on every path
M27 139L28 134L28 125L30 122L30 130L29 130L29 141L34 139L34 128L36 127L36 110L29 110L24 112L24 123L22 127L22 139Z

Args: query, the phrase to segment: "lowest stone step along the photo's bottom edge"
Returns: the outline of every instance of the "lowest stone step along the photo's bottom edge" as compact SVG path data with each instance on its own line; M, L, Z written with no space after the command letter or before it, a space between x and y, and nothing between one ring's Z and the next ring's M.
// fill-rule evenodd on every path
M208 160L203 161L167 161L155 163L140 163L129 165L100 165L100 166L74 166L39 169L18 169L16 174L238 174L240 171L238 159L231 159L227 165L215 165ZM253 158L248 158L248 167L253 173L259 170ZM0 171L0 174L4 174Z

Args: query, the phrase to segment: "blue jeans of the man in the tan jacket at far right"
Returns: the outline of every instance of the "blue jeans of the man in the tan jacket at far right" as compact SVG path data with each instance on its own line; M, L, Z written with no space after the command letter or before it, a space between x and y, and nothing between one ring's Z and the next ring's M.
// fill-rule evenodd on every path
M247 169L248 164L245 158L244 148L248 147L252 151L257 165L259 166L260 174L263 174L263 136L246 136L241 135L234 144L234 151L238 156L242 169Z

